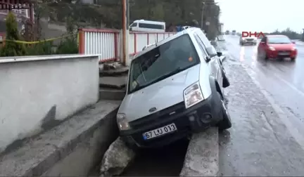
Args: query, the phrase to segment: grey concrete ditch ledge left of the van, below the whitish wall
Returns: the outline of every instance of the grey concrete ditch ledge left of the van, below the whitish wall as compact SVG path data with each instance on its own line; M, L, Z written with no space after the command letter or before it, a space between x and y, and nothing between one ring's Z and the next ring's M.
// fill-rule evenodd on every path
M115 114L120 101L94 107L1 157L0 176L87 176L118 137Z

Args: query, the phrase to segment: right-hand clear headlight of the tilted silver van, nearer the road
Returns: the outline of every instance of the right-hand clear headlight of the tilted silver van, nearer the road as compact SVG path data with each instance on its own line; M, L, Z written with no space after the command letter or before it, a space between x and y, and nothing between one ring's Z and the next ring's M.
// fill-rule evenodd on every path
M198 82L192 84L184 90L184 103L186 108L189 108L197 103L201 102L203 99L203 93L201 92L201 87Z

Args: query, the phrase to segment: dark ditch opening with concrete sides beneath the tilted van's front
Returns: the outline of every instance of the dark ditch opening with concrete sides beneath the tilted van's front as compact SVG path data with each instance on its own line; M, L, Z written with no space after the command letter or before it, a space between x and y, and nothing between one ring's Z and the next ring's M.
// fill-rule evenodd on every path
M100 176L216 176L218 130L196 133L156 150L130 150L118 138L103 156Z

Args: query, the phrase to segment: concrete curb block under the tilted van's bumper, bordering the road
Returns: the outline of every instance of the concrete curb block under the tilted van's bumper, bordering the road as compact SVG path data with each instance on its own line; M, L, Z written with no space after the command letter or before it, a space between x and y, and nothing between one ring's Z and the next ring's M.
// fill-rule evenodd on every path
M218 159L218 129L211 127L192 136L179 176L217 176Z

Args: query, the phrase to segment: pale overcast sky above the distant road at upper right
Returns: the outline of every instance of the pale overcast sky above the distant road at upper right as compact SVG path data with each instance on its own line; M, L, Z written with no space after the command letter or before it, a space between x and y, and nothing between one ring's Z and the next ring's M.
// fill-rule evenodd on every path
M304 0L215 0L222 11L224 30L273 32L304 28Z

